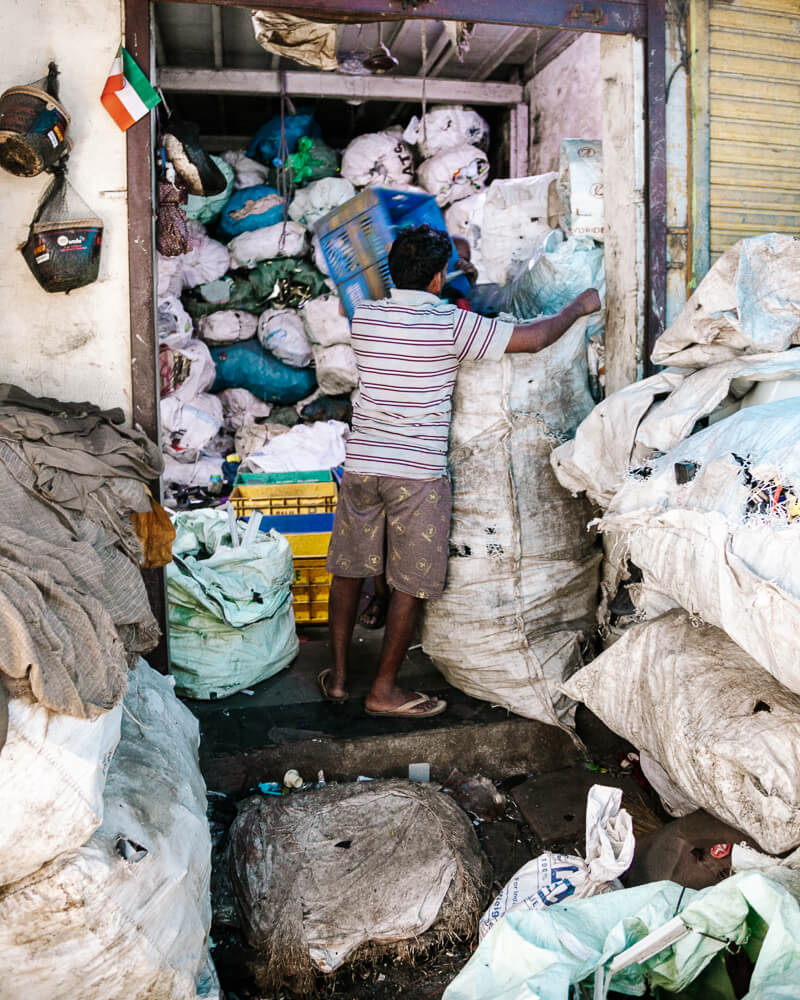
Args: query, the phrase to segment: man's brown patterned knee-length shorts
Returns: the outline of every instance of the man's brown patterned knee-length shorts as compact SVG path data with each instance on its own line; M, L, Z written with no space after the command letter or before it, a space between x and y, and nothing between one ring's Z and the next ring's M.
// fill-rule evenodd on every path
M336 576L379 576L413 597L441 597L447 574L450 481L345 472L328 550ZM384 567L384 538L386 565Z

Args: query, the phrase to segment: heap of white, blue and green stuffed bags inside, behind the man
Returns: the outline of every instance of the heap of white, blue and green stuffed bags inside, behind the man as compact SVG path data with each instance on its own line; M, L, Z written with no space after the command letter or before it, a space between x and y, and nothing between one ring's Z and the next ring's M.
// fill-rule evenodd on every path
M475 111L445 107L337 151L298 109L263 125L246 150L206 157L205 195L202 151L192 162L185 143L165 141L158 335L169 506L213 503L239 463L341 465L358 372L314 225L368 186L425 190L441 206L469 200L487 180L488 136Z

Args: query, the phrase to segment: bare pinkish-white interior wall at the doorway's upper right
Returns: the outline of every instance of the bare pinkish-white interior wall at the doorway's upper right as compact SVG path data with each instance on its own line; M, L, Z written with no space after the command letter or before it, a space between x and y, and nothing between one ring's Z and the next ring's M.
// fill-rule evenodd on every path
M584 32L528 84L530 171L558 170L562 139L602 136L600 35Z

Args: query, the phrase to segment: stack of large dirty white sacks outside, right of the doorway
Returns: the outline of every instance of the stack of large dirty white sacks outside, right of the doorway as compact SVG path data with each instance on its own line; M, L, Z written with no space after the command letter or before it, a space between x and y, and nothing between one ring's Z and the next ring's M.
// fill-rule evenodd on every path
M798 275L792 237L737 243L658 342L673 367L608 397L552 457L603 511L601 626L626 579L633 622L567 693L652 758L665 804L688 799L771 851L800 843Z

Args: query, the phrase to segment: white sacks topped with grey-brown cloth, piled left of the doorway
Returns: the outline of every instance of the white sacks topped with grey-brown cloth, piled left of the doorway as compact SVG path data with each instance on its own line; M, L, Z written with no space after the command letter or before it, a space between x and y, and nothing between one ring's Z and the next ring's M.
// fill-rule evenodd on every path
M141 659L140 568L175 534L159 449L121 410L2 385L0 465L2 992L191 1000L205 975L212 997L198 726Z

